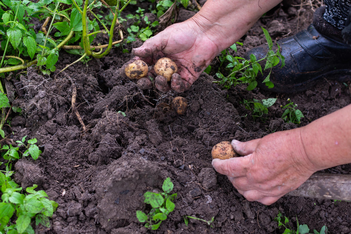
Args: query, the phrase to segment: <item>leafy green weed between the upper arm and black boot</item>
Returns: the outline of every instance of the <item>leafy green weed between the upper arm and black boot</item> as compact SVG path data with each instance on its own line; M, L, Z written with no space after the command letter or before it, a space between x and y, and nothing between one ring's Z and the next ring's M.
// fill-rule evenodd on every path
M267 52L266 56L262 59L257 60L256 56L254 54L251 54L250 60L246 60L238 56L233 57L232 55L227 55L226 59L230 63L226 67L232 68L232 71L228 76L224 76L222 73L218 72L216 76L219 78L219 81L214 81L215 83L219 83L224 88L230 88L231 86L247 83L249 84L247 86L247 90L252 90L257 86L256 77L258 72L261 72L261 74L263 75L262 67L259 62L265 60L266 64L263 71L265 71L266 69L270 69L270 72L263 80L263 83L265 83L265 85L268 86L268 88L274 87L273 83L270 81L272 68L274 66L277 66L279 61L282 62L282 67L284 67L285 59L284 56L279 52L280 46L278 44L277 51L276 53L274 53L271 36L269 35L266 29L262 28L262 30L266 37L269 47L269 51ZM237 77L238 74L241 74L241 77Z

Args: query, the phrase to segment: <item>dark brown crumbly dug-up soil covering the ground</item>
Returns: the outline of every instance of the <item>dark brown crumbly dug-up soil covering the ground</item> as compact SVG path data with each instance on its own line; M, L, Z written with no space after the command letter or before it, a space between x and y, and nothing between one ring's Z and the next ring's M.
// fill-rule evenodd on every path
M238 55L265 43L261 25L274 40L306 28L313 9L293 4L284 1L261 18L241 39L244 46L238 47ZM140 45L138 41L125 47ZM28 68L26 75L9 82L19 96L13 103L23 108L23 115L10 115L11 128L5 130L13 132L13 141L25 135L37 138L43 151L36 161L16 162L15 180L24 188L38 184L59 203L51 227L39 225L36 233L282 233L274 221L279 211L289 217L292 227L297 217L310 230L326 225L330 233L351 232L350 202L291 196L270 206L249 202L211 166L211 149L220 141L248 141L298 127L280 119L279 105L286 104L287 98L298 103L305 115L303 126L351 103L350 83L346 87L328 77L307 91L286 95L240 86L222 90L212 83L213 76L204 73L184 93L142 91L120 76L120 67L131 58L114 47L87 65L76 63L50 76ZM76 59L61 52L57 71ZM87 132L72 110L74 89L75 106ZM168 106L179 95L188 101L184 115ZM278 99L266 122L253 121L242 104L244 99L272 97ZM349 174L351 167L325 172ZM147 230L135 211L150 209L143 194L160 191L167 177L178 193L176 207L158 230ZM192 219L186 226L184 215L214 217L214 227Z

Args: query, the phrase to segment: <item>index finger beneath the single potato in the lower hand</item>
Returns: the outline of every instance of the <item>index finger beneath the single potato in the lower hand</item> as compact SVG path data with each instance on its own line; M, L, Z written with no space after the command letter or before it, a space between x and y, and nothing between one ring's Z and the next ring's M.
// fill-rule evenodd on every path
M223 175L238 177L245 176L249 168L249 156L231 158L231 159L213 159L212 166Z

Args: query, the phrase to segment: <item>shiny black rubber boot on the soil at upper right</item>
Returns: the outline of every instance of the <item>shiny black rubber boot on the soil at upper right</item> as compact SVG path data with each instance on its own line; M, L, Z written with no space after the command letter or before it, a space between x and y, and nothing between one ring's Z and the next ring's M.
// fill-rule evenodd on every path
M272 69L270 80L274 87L271 89L262 83L269 69L264 72L265 76L259 73L260 88L293 93L312 87L324 77L340 82L351 80L351 45L342 40L341 30L323 19L324 11L325 8L318 9L313 24L304 31L277 41L280 53L285 57L285 67L280 68L279 64ZM255 54L257 59L263 58L267 50L267 45L255 47L245 58L250 58L250 54Z

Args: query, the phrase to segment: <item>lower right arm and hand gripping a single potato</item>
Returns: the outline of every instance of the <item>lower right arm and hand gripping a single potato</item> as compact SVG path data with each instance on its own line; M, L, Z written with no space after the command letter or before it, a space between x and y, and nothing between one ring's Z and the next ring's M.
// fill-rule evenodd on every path
M227 175L249 201L265 205L298 188L321 169L351 163L351 105L304 127L232 142L239 158L214 159L217 172Z

